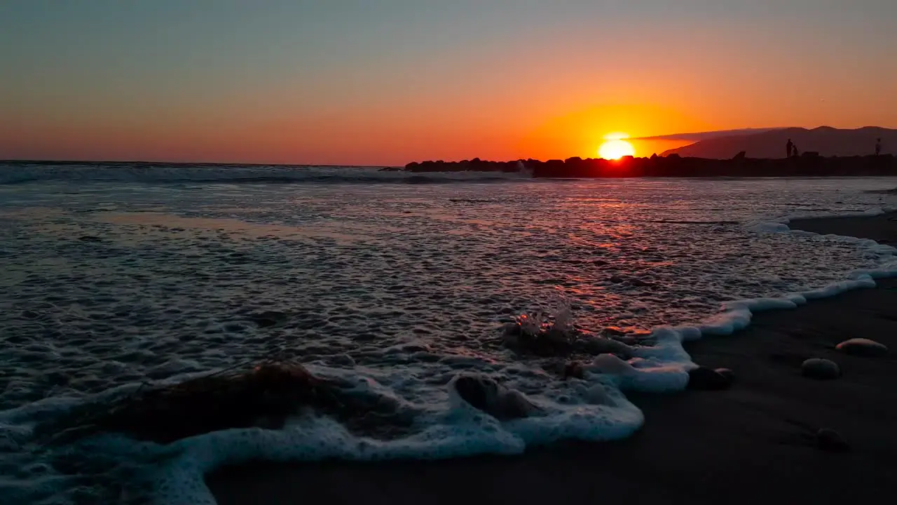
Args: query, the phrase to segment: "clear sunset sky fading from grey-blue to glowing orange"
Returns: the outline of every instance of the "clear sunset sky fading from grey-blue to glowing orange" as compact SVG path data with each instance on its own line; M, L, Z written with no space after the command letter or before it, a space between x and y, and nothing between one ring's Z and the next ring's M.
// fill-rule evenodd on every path
M400 165L897 128L894 26L894 0L0 0L0 159Z

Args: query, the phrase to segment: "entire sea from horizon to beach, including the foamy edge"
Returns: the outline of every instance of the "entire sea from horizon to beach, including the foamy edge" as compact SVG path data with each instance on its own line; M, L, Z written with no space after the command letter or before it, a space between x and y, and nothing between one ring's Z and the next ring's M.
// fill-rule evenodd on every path
M0 502L213 503L203 474L252 458L517 454L621 439L631 389L684 388L682 341L728 334L897 271L892 247L791 232L875 214L889 179L533 180L525 174L219 165L0 166ZM542 312L651 333L584 379L502 345ZM258 315L273 317L258 324ZM710 337L708 337L710 338ZM43 447L73 405L276 354L388 398L394 437L327 418L170 446L101 435ZM498 421L451 387L492 377L541 407Z

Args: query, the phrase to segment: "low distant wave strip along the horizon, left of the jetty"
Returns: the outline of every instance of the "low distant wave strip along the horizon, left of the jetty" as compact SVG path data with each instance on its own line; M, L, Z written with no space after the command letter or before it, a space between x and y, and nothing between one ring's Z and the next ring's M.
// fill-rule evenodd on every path
M408 173L345 166L193 164L0 164L0 185L36 182L151 184L449 184L528 180L528 173Z

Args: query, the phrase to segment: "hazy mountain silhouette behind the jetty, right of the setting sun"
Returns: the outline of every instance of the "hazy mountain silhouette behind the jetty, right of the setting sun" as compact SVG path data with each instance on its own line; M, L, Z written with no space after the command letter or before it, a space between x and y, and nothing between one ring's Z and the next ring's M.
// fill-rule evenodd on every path
M865 127L781 128L762 133L708 138L689 146L665 151L662 155L728 159L745 151L751 158L784 158L791 139L800 153L823 156L861 156L875 153L875 139L882 139L882 154L897 153L897 129Z

